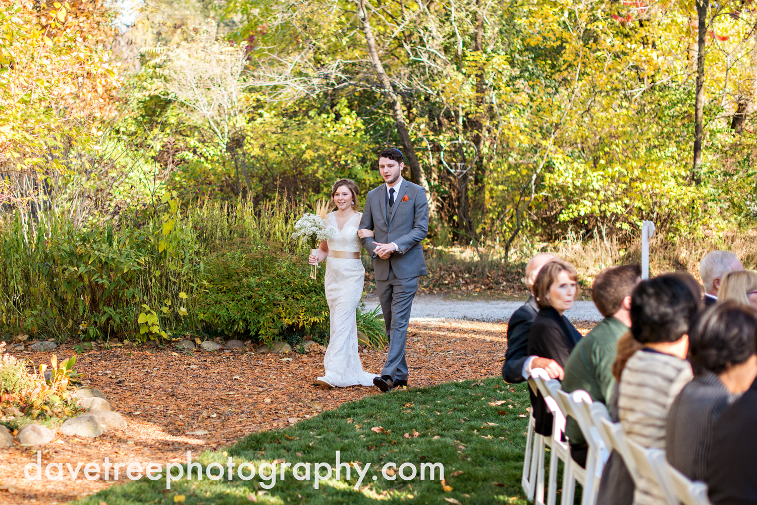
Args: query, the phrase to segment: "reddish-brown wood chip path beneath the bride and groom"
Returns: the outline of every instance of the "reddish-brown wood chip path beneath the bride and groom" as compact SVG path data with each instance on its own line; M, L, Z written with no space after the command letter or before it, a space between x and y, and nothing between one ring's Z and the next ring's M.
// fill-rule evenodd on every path
M592 323L577 325L586 333ZM410 386L498 376L505 357L506 324L473 321L411 323L407 343ZM49 363L52 353L17 353L34 363ZM68 346L56 349L69 357ZM385 352L361 351L363 367L381 371ZM327 389L315 385L323 373L323 354L250 354L241 351L148 351L98 348L76 357L83 382L104 391L114 410L126 417L126 429L110 429L94 439L56 433L39 447L47 463L185 461L258 430L277 429L315 416L347 401L378 394L360 386ZM207 432L188 435L188 432ZM66 503L116 482L79 476L61 481L27 480L26 463L38 447L0 449L0 505ZM53 472L55 475L55 471ZM126 479L121 475L121 482Z

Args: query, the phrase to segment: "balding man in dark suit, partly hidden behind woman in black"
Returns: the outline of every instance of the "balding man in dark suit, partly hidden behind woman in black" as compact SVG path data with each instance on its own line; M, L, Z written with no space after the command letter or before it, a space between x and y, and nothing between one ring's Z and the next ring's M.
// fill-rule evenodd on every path
M556 259L552 254L539 253L525 266L523 282L528 286L528 291L531 291L531 296L522 307L512 313L507 322L507 351L505 351L505 363L502 366L502 378L505 382L516 384L525 381L531 374L531 368L545 369L551 378L562 379L562 368L555 360L528 356L528 334L539 311L534 300L534 281L541 267L544 267L544 263Z

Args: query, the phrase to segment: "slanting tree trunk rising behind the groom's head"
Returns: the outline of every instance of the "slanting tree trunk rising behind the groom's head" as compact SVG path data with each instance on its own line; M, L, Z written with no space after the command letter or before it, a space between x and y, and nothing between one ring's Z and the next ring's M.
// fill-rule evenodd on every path
M360 23L362 23L363 34L366 36L366 45L368 46L368 55L371 58L371 64L373 70L375 70L378 76L378 82L381 83L384 92L389 96L391 100L392 114L394 115L394 123L397 125L397 133L400 136L400 142L405 151L405 157L407 158L407 164L410 165L410 176L413 182L422 185L428 193L428 184L426 183L425 176L421 170L421 165L416 155L416 150L413 148L413 142L410 140L410 134L407 132L407 123L405 122L405 115L402 111L402 97L394 92L394 88L391 86L389 76L386 75L384 66L381 60L378 58L378 50L376 49L376 42L373 38L373 30L371 23L368 19L368 9L366 9L366 3L368 0L355 0L357 5L357 15L360 17ZM430 196L430 195L429 195ZM431 202L429 201L429 210L431 210Z

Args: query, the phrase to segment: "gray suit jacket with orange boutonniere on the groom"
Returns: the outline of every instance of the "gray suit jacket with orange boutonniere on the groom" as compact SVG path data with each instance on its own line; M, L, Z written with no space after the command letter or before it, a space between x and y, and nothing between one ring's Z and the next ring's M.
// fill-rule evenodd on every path
M428 200L422 186L403 179L394 207L388 207L385 184L369 191L360 228L372 229L375 235L363 238L362 242L373 257L377 281L389 278L390 264L397 279L428 275L421 246L428 233ZM393 252L388 260L382 260L374 252L375 242L394 242L400 250Z

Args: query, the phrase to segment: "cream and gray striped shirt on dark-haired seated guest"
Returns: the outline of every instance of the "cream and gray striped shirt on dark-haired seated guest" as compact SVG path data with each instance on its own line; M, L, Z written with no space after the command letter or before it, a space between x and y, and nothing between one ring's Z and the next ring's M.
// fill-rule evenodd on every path
M692 379L688 361L649 348L636 351L621 373L618 413L625 433L643 447L665 450L665 423L675 397ZM634 505L667 505L657 482L639 475Z

